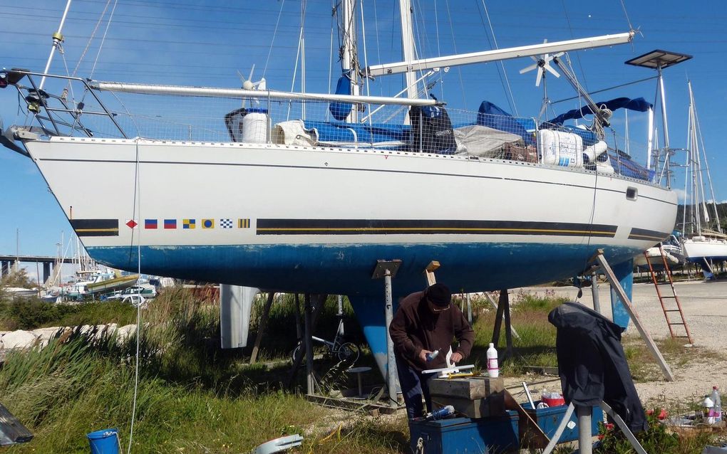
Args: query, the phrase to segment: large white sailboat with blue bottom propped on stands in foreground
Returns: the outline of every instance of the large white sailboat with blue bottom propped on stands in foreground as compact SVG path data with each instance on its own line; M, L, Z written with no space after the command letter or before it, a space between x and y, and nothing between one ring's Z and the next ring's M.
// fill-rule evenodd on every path
M354 4L341 3L342 23L354 22ZM584 130L418 95L440 68L613 46L634 33L417 59L401 5L404 60L363 68L356 34L345 33L337 94L4 70L1 85L34 119L9 127L4 145L36 162L97 262L348 295L382 370L379 260L401 260L395 300L423 288L433 260L438 280L464 292L579 275L598 248L630 275L632 257L670 235L677 197L608 145L606 110L593 105ZM393 74L405 75L407 97L359 94L364 78Z

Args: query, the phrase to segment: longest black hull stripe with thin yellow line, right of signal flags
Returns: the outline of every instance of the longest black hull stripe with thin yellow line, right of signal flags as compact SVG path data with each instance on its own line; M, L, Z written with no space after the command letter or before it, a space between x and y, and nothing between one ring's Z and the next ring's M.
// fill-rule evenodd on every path
M618 226L419 219L257 219L257 235L561 235L614 238Z

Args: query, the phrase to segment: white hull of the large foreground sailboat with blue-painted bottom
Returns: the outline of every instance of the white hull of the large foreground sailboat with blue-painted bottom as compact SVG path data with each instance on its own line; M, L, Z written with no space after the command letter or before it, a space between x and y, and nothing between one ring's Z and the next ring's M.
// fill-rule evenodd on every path
M675 193L661 187L603 174L596 177L582 169L515 161L364 148L132 139L53 137L28 141L25 146L94 259L136 270L132 256L137 247L150 248L148 254L152 255L162 251L169 257L178 248L241 246L228 259L267 269L275 275L278 288L289 291L302 291L305 286L343 293L343 284L334 282L339 280L335 272L357 268L369 272L348 278L370 280L375 260L347 262L349 252L364 246L399 248L395 256L373 254L379 254L379 259L403 259L411 267L403 269L403 277L398 279L404 288L421 285L421 269L440 258L417 255L424 251L411 249L414 246L436 247L447 256L452 251L449 248L457 246L515 245L519 249L507 253L513 265L534 261L542 266L558 258L534 259L523 245L564 245L589 254L604 247L607 256L623 262L666 238L676 215ZM69 179L69 174L83 174L84 187ZM97 190L89 193L87 187ZM635 200L627 199L629 188L638 194ZM91 232L100 236L89 236L88 231L79 230L79 222L99 219L118 221L118 231L109 235ZM139 225L127 227L124 223L129 219ZM145 228L145 219L156 220L157 228ZM173 219L176 228L165 229L164 219ZM185 219L195 219L195 228L183 228ZM204 219L212 221L211 228L203 228ZM249 219L249 223L238 224L238 219ZM222 228L222 224L230 227L230 222L231 228ZM285 257L264 256L265 248L273 246L290 249L281 253ZM334 252L333 263L316 262L324 256L306 253L295 258L299 262L291 269L289 254L300 246L315 247L316 254ZM108 259L103 251L111 248L131 255L125 261ZM394 249L379 251L387 250ZM485 252L491 251L483 249L480 255ZM473 259L476 251L467 254L462 263L443 263L443 272L461 269L480 276L480 283L462 283L472 291L492 285L499 288L500 283L484 278L480 260L484 262L486 257ZM590 256L579 254L585 258L579 256L578 262ZM144 257L142 252L142 271ZM573 256L563 259L572 261ZM196 266L167 265L164 270L153 267L148 272L190 277L183 268ZM507 268L510 264L501 265ZM577 272L585 265L553 266L553 272L540 270L542 277L524 280L567 277L556 275L566 268L569 273ZM253 277L245 266L238 268L239 276L230 273L219 280L268 285L256 282L266 279ZM299 269L307 273L307 280L316 272L328 274L319 274L314 279L318 282L298 285L294 282L303 277L296 275Z

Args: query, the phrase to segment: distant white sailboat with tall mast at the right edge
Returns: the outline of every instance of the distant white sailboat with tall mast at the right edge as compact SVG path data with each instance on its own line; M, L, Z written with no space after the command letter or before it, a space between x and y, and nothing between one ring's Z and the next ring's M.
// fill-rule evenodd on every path
M704 150L702 131L699 129L699 118L696 116L694 93L689 82L689 136L688 136L688 166L685 182L686 200L683 212L683 240L684 252L689 262L702 265L705 277L714 276L714 265L727 260L727 235L722 231L717 200L712 187L710 166L707 162L707 153ZM708 203L704 193L711 195L712 201ZM712 216L707 204L712 206Z

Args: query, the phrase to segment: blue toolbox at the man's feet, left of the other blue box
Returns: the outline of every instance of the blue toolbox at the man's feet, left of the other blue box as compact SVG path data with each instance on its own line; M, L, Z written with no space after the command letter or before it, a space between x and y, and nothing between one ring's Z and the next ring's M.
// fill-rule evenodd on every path
M411 452L482 454L518 452L518 413L490 418L409 421ZM420 447L419 447L420 446Z

